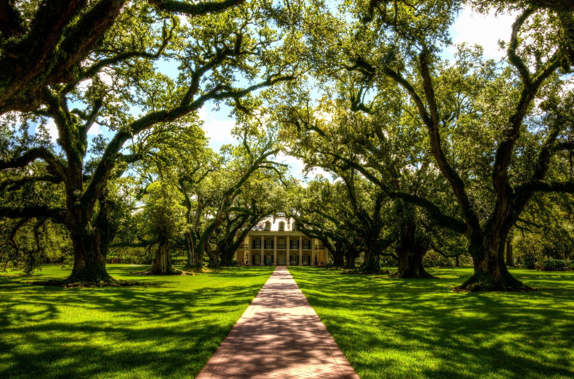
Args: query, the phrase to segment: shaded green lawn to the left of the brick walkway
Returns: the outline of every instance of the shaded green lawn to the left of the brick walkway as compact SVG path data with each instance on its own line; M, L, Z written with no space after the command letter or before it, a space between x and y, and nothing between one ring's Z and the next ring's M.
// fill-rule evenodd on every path
M193 377L269 278L268 267L195 276L129 275L158 286L61 288L23 282L65 278L49 265L0 276L0 378Z

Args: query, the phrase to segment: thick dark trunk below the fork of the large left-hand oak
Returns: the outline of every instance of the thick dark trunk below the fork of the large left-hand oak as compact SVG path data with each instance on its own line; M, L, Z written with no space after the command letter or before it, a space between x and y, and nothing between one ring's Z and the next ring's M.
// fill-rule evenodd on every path
M74 261L66 283L116 283L106 271L99 229L76 226L71 231Z

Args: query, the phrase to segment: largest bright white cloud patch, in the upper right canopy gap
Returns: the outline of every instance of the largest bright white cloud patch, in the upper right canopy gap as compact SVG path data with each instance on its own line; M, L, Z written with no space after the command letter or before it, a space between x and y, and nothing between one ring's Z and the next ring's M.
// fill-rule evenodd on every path
M455 24L451 26L452 40L455 44L468 42L471 45L479 44L484 48L484 56L499 60L506 56L506 52L498 46L498 40L510 39L511 27L516 19L516 13L496 15L494 11L484 15L472 10L470 5L463 8ZM455 50L453 46L449 49Z

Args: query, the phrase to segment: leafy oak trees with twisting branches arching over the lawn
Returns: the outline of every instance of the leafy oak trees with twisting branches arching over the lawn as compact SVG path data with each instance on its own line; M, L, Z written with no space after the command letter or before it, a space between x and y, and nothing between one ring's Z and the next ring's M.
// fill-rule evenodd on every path
M496 61L453 44L464 6L0 2L2 262L30 272L60 251L68 282L114 284L123 246L153 256L146 273L183 273L170 251L216 268L281 216L363 273L389 259L432 278L432 251L472 259L457 290L532 290L506 268L513 246L572 253L574 10L472 2L516 15ZM236 122L219 151L206 104ZM302 182L285 156L326 174Z

